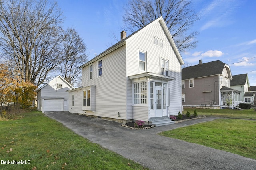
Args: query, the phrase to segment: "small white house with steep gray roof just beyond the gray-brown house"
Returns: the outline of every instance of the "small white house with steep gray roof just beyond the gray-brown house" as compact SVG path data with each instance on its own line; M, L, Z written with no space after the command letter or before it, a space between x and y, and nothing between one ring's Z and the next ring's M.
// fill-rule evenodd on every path
M250 87L248 75L239 74L232 76L232 80L230 80L230 88L240 91L240 102L245 102L246 99L244 97L245 93L248 92L248 88ZM248 95L248 94L247 94ZM246 96L247 98L247 96Z

